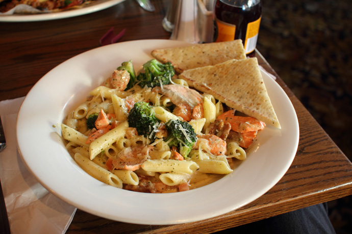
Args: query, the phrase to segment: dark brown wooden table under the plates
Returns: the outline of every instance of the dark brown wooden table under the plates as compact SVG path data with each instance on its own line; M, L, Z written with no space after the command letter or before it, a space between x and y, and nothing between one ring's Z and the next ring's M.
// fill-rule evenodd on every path
M125 1L99 12L49 21L0 23L0 100L25 96L49 70L68 58L99 46L112 26L126 28L120 41L168 39L161 21L167 1L155 0L156 12ZM211 233L334 200L352 194L352 164L265 59L260 65L277 77L297 112L299 146L285 176L263 196L219 217L179 225L150 226L111 221L78 210L67 233Z

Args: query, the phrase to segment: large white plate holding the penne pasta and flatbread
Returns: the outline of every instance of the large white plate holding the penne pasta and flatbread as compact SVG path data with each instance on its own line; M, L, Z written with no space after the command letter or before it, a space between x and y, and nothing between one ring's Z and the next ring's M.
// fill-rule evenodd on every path
M171 40L129 41L99 47L60 64L28 93L17 119L18 148L30 171L49 191L88 213L137 224L177 224L215 217L257 199L291 165L298 146L295 110L281 87L263 73L282 129L267 126L233 173L202 188L168 194L117 189L84 172L67 153L59 134L69 110L85 100L124 61L135 69L155 48L187 45ZM56 128L53 127L56 126Z

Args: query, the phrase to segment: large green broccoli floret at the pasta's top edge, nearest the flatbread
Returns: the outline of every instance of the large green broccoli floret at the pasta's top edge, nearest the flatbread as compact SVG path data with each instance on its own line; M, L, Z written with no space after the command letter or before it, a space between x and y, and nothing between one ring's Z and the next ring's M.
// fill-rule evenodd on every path
M175 74L175 70L170 62L162 64L156 59L149 60L143 64L144 73L139 73L137 80L141 87L161 86L170 83L171 77Z

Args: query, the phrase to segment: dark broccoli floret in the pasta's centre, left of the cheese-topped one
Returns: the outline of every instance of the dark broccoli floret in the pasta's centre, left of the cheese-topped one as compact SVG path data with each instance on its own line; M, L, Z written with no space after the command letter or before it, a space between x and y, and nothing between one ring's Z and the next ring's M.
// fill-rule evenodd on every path
M129 126L136 128L139 135L152 140L155 139L155 128L159 126L159 120L155 112L146 102L136 102L128 116ZM153 134L152 134L153 132Z

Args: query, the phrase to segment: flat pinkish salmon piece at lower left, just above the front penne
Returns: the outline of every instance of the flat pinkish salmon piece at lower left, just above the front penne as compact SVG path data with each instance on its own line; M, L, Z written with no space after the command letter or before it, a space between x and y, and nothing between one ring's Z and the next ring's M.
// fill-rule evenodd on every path
M152 149L152 145L138 145L125 148L117 154L112 164L116 169L137 170L141 167L142 163L149 158L149 151Z

